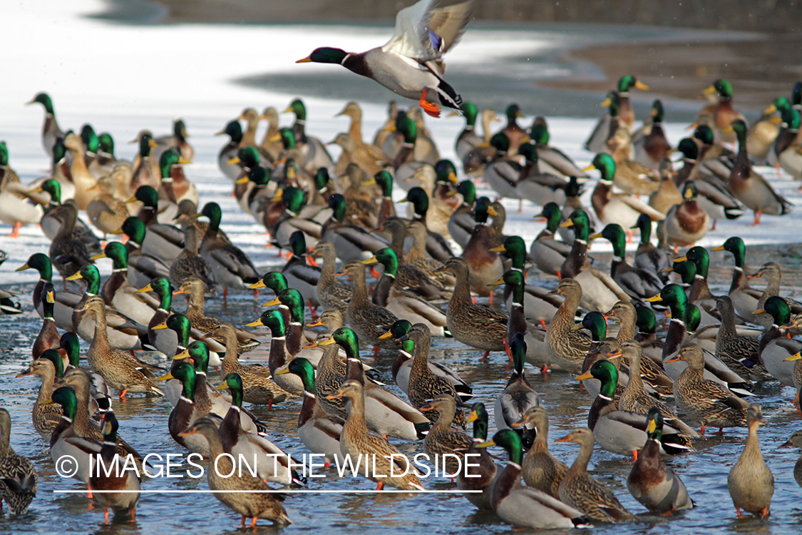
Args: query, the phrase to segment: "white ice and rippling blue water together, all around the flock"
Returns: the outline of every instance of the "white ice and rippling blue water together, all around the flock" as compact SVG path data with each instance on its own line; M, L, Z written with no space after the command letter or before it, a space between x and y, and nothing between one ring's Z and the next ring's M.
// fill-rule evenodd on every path
M8 79L0 99L0 137L6 140L10 150L10 162L23 181L30 181L43 174L47 160L43 155L39 132L42 120L41 107L25 107L22 103L38 91L49 91L62 128L80 128L91 123L98 132L111 132L117 142L119 157L132 157L133 146L125 144L136 136L141 128L151 128L156 135L168 132L171 120L182 116L188 124L190 141L196 150L195 162L186 172L198 184L201 202L217 201L224 212L223 229L229 237L248 253L255 264L267 270L282 265L275 257L275 249L265 249L264 229L251 217L240 213L236 201L229 197L231 184L221 177L217 169L217 151L222 145L219 137L212 136L228 120L237 116L241 109L253 106L261 109L267 105L282 110L295 96L305 96L305 87L297 92L275 93L258 91L229 83L253 72L273 69L277 72L293 72L292 63L308 54L320 44L341 44L344 48L363 50L381 42L379 31L353 30L350 28L322 28L313 33L306 32L298 39L298 28L260 28L256 26L169 26L132 27L76 18L75 13L99 9L95 2L79 2L75 7L63 6L61 2L37 2L37 6L14 6L0 24L4 30L14 29L18 34L48 34L48 39L27 39L25 47L0 47L0 59L6 66ZM32 22L35 20L36 22ZM306 30L305 30L306 31ZM2 33L8 35L9 33ZM377 38L377 36L379 36ZM292 39L282 39L291 37ZM484 35L477 31L472 37L478 45L503 42L504 35ZM525 39L516 37L516 39ZM507 46L511 46L508 39ZM537 36L529 39L532 43ZM466 43L468 44L468 41ZM502 43L503 44L503 43ZM514 44L514 43L513 43ZM489 46L489 45L488 45ZM501 45L499 45L501 46ZM534 46L534 45L533 45ZM269 54L253 55L251 51ZM468 47L466 47L468 48ZM187 51L187 52L184 52ZM192 51L192 52L189 52ZM247 51L247 53L246 53ZM460 51L458 47L455 54ZM174 56L180 57L180 61ZM483 63L484 62L484 63ZM492 57L481 59L477 68L487 67ZM457 64L460 59L457 59ZM306 66L305 66L306 67ZM334 67L311 67L322 73ZM152 70L161 75L152 75ZM144 73L144 74L143 74ZM361 83L361 81L360 81ZM470 95L472 88L460 91ZM387 99L391 95L387 93ZM476 97L481 98L481 95ZM327 141L337 132L346 130L347 121L334 118L344 105L341 100L326 100L320 97L306 98L308 108L308 132ZM527 105L520 104L526 110ZM404 103L406 105L406 103ZM384 120L384 106L367 104L363 107L363 134L373 135ZM499 110L501 111L501 110ZM529 124L531 117L521 122ZM291 116L282 115L282 124L290 124ZM444 157L453 156L453 140L462 128L459 119L429 120L435 140ZM549 116L552 142L576 158L577 163L586 164L592 155L581 150L593 126L591 119L568 119L559 113ZM669 139L676 143L687 135L685 124L666 125ZM257 134L261 139L261 130ZM799 205L800 194L795 193L797 184L788 176L770 168L759 168L764 176L789 199ZM487 190L480 193L492 194ZM397 193L399 196L401 193ZM541 230L540 223L532 217L539 207L525 204L521 213L516 213L516 201L504 201L508 209L505 232L520 233L527 242ZM589 203L587 203L589 204ZM732 235L739 235L749 244L747 265L756 270L769 259L779 261L784 268L783 292L799 297L800 254L799 225L802 212L787 217L764 217L763 224L751 227L750 215L736 221L719 221L719 228L708 233L700 243L706 247L720 245ZM790 245L789 245L790 244ZM79 489L72 480L63 480L55 474L46 444L40 440L30 423L30 406L33 403L38 381L32 378L14 379L30 359L30 345L41 324L31 310L30 290L36 280L31 271L15 273L19 265L34 251L47 251L48 242L36 227L22 229L22 237L0 238L0 249L8 253L9 260L0 265L0 281L3 286L18 290L25 314L16 317L0 317L0 395L4 407L8 408L14 423L12 445L16 450L34 459L39 474L39 491L29 515L22 518L0 517L0 531L36 531L52 533L173 533L176 529L192 529L196 533L225 533L236 529L237 516L209 495L144 494L140 500L136 524L115 523L103 526L102 514L84 496L53 494L55 489ZM631 248L630 248L631 250ZM602 266L609 265L609 244L593 244L592 253L598 255ZM731 255L711 254L711 288L724 292L731 276ZM99 261L99 269L105 276L111 264ZM556 286L556 279L530 275L530 282L545 286ZM60 282L56 282L57 288ZM762 284L755 284L762 287ZM210 315L242 326L253 321L261 312L264 294L254 301L249 294L233 294L227 302L211 298L207 302ZM183 310L184 303L178 299L176 310ZM262 346L245 355L245 362L266 362L269 336L262 334ZM85 346L84 346L85 347ZM365 351L367 355L367 351ZM500 393L510 373L507 359L502 354L492 355L487 362L480 363L480 352L472 351L453 340L435 339L431 356L433 359L453 367L472 384L476 399L487 404L492 411L496 395ZM164 363L157 355L145 355L145 359ZM379 355L377 367L383 379L391 383L389 366L393 355ZM366 357L370 359L370 357ZM219 381L217 375L210 378ZM565 374L552 374L549 378L531 370L530 380L541 394L551 417L551 435L563 436L570 429L585 425L591 399L580 392L577 383ZM392 387L395 389L395 387ZM755 399L764 405L768 423L760 428L759 436L764 456L776 478L776 494L772 503L770 521L735 519L735 512L727 494L726 476L731 464L737 460L745 429L729 430L723 437L710 436L695 444L697 452L677 457L670 463L683 477L691 496L699 504L697 509L679 514L671 519L644 516L629 525L599 526L595 530L603 533L656 533L670 530L672 533L789 533L798 529L800 511L797 505L800 488L793 480L792 468L799 452L777 450L776 447L788 439L800 427L790 400L792 389L776 384L759 387ZM306 452L294 432L299 400L277 405L273 411L266 407L252 407L271 430L271 438L287 451L301 455ZM170 411L165 399L143 398L132 395L128 401L116 402L115 413L120 421L120 434L141 453L185 453L167 432ZM491 423L491 432L494 428ZM408 444L411 451L420 449L419 444ZM577 453L573 444L553 444L554 454L571 462ZM503 457L501 452L497 452ZM630 467L622 459L609 452L597 449L591 466L594 473L610 484L622 502L634 512L642 512L626 492L626 475ZM452 488L444 479L427 480L429 489ZM312 480L311 489L369 489L374 484L364 479L338 479L329 472L325 479ZM145 489L160 488L207 488L205 479L190 478L149 480ZM354 529L374 529L394 533L508 533L511 528L501 523L492 514L479 514L462 496L456 495L355 495L355 494L306 494L290 496L286 509L294 524L287 532L323 529L326 533L352 533ZM263 521L264 522L264 521ZM670 522L670 524L669 524ZM260 525L258 530L269 528Z

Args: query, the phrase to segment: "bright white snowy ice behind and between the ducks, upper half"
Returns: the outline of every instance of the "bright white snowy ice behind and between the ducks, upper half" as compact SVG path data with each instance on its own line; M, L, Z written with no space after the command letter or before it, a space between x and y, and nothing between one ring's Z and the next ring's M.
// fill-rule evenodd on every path
M41 106L25 106L39 91L47 91L54 102L56 116L63 129L89 123L96 132L111 132L118 157L132 158L135 145L127 144L143 128L162 135L170 131L173 118L180 116L188 125L190 142L195 148L195 163L186 172L201 191L201 203L217 201L224 210L223 228L249 255L257 266L276 265L275 249L265 249L264 229L241 213L233 197L228 197L231 183L217 168L217 152L224 137L213 136L245 107L258 110L266 106L279 111L292 99L304 97L304 87L294 94L277 94L232 83L254 72L292 72L296 69L326 71L337 66L296 65L296 59L315 47L332 45L346 50L366 50L387 39L387 28L350 26L225 26L170 25L136 26L106 22L84 15L103 10L100 0L6 4L0 18L0 64L6 83L0 90L0 139L6 140L10 164L23 181L42 176L48 167L40 142L43 120ZM302 35L302 39L299 39ZM538 37L536 32L505 33L498 30L470 30L464 42L448 55L451 64L470 62L476 69L490 69L513 52L542 51L556 46ZM468 93L469 87L458 87ZM656 88L658 89L658 88ZM387 91L387 99L398 99ZM599 95L599 100L602 95ZM345 105L341 100L305 98L307 132L323 141L334 139L348 128L348 120L334 117ZM401 102L402 105L412 104ZM519 102L526 111L527 103ZM503 110L498 110L501 114ZM385 120L385 107L363 104L363 134L373 136ZM670 117L669 117L670 118ZM282 124L293 120L281 116ZM528 125L531 117L521 120ZM595 118L572 119L549 116L551 143L572 156L578 164L587 164L593 155L581 149ZM461 118L428 120L443 157L454 156L454 140L463 127ZM669 140L676 142L690 132L687 124L666 124ZM262 125L261 128L265 128ZM261 139L263 130L257 132ZM332 150L336 157L337 148ZM775 188L796 205L802 194L799 184L773 168L759 168ZM482 192L491 194L489 192ZM399 192L402 195L403 192ZM586 193L589 196L589 191ZM540 207L525 204L516 213L517 201L505 201L508 222L505 232L520 233L531 241L542 225L532 217ZM589 201L586 203L589 204ZM764 217L751 226L751 213L736 221L719 221L718 229L707 234L700 245L721 244L731 235L739 235L747 244L796 243L800 241L797 225L802 209L785 217ZM22 237L0 237L0 249L9 261L0 266L3 284L31 282L30 272L15 273L28 255L47 250L47 238L35 226L22 229ZM593 244L594 250L606 250L609 244ZM106 267L106 269L109 266ZM101 264L101 270L103 264Z

